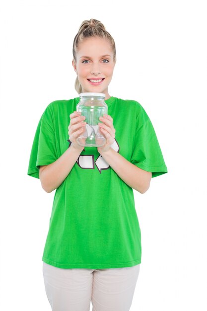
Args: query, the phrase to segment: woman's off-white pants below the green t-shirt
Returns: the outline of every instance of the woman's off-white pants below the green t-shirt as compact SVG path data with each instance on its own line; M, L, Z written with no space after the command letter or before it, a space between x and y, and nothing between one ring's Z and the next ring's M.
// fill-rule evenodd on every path
M62 269L43 262L52 311L129 311L140 264L112 269Z

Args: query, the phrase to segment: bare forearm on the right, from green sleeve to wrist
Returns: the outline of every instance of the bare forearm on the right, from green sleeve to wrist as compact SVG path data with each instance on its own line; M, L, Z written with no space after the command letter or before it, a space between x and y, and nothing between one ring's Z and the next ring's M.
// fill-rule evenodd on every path
M148 190L152 173L147 172L138 166L128 161L124 156L121 156L111 147L108 151L101 151L99 153L106 162L113 168L113 170L124 180L130 187L134 188L140 193Z

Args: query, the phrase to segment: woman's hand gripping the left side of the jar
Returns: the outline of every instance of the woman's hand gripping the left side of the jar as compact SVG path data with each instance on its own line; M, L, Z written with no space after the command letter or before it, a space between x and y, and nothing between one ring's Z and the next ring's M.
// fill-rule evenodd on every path
M78 145L76 142L76 138L84 133L86 130L86 122L84 122L85 117L81 116L81 112L74 111L69 115L70 123L69 123L69 140L72 143L73 147L78 150L83 150L84 146ZM86 137L81 138L81 144L85 145Z

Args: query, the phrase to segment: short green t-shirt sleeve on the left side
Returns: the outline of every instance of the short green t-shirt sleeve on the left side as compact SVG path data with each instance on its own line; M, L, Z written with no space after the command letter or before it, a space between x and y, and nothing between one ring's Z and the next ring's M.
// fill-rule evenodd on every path
M53 115L48 106L36 129L27 174L39 178L39 165L48 165L57 159Z

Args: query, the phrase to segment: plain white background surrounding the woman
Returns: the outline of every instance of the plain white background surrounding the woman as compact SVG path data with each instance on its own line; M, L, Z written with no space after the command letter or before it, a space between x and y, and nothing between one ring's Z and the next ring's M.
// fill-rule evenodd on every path
M78 96L72 43L95 18L116 43L109 94L144 107L168 168L134 190L142 262L131 311L206 311L205 1L0 3L1 309L51 310L42 254L55 191L27 168L47 105Z

